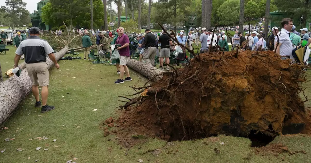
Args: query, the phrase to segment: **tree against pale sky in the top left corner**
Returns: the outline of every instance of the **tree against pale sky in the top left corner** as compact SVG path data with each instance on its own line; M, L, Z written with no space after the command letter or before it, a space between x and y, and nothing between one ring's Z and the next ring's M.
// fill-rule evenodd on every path
M4 18L10 18L12 19L12 28L14 29L14 26L27 23L25 22L26 20L21 20L25 19L25 15L29 15L29 12L26 11L25 6L26 3L23 2L22 0L6 0L5 1L5 6L1 6L1 12L4 12Z

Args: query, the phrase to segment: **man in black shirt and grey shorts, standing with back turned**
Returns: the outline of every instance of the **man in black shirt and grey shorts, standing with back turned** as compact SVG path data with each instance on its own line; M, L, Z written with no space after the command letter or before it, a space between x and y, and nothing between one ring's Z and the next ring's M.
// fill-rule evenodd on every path
M161 44L161 49L160 49L160 69L163 70L163 62L164 62L164 57L165 57L165 63L169 64L169 57L170 55L170 46L173 45L173 42L169 35L167 35L163 30L162 30L162 35L159 37L158 43ZM166 70L169 70L169 66L166 66Z

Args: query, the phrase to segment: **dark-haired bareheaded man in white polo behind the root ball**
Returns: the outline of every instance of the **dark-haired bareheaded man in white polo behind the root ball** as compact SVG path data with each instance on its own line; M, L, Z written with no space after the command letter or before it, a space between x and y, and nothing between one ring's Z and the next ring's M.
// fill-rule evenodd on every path
M290 59L292 55L293 45L290 41L290 31L293 27L293 20L290 18L284 18L281 22L282 29L274 38L274 49L277 54L280 54L281 59ZM279 45L277 41L279 40ZM292 58L291 58L292 59Z

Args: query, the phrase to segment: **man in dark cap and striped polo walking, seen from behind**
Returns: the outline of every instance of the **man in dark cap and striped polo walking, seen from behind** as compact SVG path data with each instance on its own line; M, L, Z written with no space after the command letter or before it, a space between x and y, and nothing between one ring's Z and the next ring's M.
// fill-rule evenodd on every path
M51 48L49 43L44 39L39 38L39 31L40 30L37 27L30 28L30 36L21 42L15 52L16 55L14 58L14 68L18 66L18 61L24 54L26 68L32 82L32 93L36 99L35 107L41 107L41 102L39 99L39 85L42 87L41 113L44 113L55 108L54 106L47 105L49 95L49 69L46 63L46 57L49 56L57 69L59 68L59 65L53 54L54 50Z

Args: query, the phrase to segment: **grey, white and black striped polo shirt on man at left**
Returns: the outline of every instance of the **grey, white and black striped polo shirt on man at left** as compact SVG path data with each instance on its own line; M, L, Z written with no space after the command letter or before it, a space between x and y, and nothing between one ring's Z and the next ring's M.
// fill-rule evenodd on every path
M47 41L38 36L29 36L18 46L16 54L25 55L26 63L45 62L48 54L54 50Z

